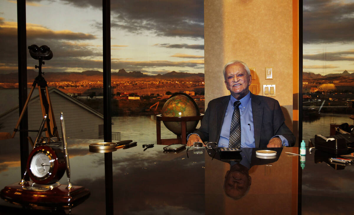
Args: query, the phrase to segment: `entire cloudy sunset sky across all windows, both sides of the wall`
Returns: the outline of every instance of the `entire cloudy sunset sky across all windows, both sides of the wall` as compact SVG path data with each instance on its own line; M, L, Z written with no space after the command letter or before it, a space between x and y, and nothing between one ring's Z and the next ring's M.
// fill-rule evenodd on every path
M54 54L46 71L102 71L102 1L27 0L27 45ZM0 2L0 72L17 71L15 0ZM112 0L112 72L204 72L204 1ZM38 62L28 58L28 68ZM303 1L303 71L354 72L354 1Z

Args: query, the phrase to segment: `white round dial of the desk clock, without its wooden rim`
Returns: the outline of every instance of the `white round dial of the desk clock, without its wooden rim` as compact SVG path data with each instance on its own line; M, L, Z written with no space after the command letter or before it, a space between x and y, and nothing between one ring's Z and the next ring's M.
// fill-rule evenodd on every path
M53 161L50 155L47 155L45 152L36 153L30 164L31 172L34 176L38 178L45 178L51 169L53 169Z

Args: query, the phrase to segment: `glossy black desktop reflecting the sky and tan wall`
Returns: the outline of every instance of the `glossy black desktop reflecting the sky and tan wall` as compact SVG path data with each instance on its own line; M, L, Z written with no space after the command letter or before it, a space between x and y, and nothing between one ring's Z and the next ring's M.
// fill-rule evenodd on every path
M141 145L112 152L113 199L106 208L104 153L89 152L99 140L69 139L72 184L91 196L71 214L351 214L354 167L336 170L307 154L300 167L297 147L282 149L278 161L253 165L252 185L235 201L225 195L223 183L230 164L212 159L206 150L164 153L161 145L143 151ZM0 188L21 179L19 144L1 140ZM315 163L315 161L317 163ZM65 177L60 181L67 184ZM109 196L109 195L108 195ZM0 214L68 214L68 210L26 210L0 199Z

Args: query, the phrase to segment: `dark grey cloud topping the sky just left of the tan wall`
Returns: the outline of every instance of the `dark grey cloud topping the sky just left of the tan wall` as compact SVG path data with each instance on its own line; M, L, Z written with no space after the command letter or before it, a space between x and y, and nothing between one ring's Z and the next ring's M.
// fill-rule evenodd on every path
M102 8L97 0L62 0L76 7ZM111 28L141 34L204 39L204 0L111 1Z

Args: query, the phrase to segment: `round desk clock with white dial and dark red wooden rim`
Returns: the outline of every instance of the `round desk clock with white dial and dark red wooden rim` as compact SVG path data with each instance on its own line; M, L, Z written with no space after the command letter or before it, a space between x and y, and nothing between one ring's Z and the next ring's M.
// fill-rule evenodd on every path
M37 184L52 184L62 178L66 170L64 152L60 147L42 145L29 154L27 171Z

